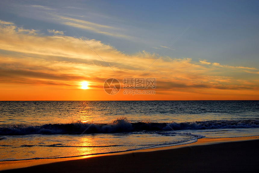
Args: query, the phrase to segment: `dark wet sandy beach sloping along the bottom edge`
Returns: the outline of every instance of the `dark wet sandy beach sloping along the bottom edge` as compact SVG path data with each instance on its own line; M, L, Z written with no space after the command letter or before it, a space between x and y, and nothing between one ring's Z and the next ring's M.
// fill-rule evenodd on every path
M259 136L202 138L188 145L73 160L1 162L0 168L2 172L258 172L258 146Z

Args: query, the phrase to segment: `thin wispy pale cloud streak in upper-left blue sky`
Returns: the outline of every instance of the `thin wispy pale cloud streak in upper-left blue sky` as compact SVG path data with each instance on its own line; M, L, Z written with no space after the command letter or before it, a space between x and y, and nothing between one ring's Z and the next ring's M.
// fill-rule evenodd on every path
M140 32L140 28L133 29L130 27L129 29L127 24L122 24L121 20L116 17L95 13L86 8L71 6L55 8L55 6L21 5L20 3L10 4L10 6L13 9L13 13L22 15L23 17L42 20L47 23L55 23L61 26L69 25L76 31L80 29L108 36L109 38L124 39L135 42L135 44L150 43L138 36L134 36L135 33ZM70 11L69 9L78 9L81 13ZM82 15L82 11L86 11L83 13L84 15ZM144 31L141 30L141 32Z

